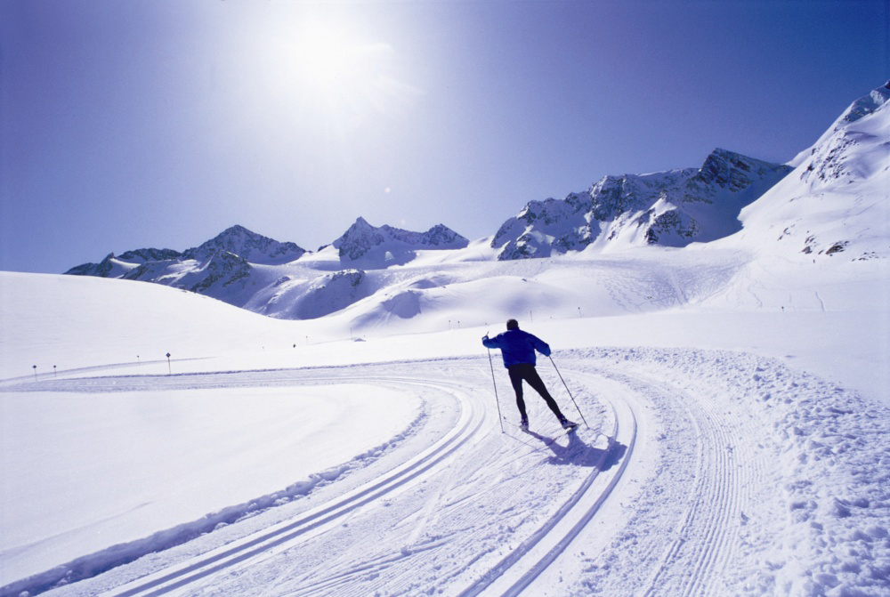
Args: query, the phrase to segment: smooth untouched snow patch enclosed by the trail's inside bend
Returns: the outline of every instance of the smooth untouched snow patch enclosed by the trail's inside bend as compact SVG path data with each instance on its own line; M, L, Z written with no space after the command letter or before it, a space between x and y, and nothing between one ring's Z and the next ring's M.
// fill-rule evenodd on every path
M360 424L379 410L379 424ZM258 496L385 444L416 411L404 392L350 383L305 385L296 396L249 387L15 394L0 422L4 454L15 455L4 470L4 574L36 574L207 512L231 519ZM354 432L327 431L339 426Z

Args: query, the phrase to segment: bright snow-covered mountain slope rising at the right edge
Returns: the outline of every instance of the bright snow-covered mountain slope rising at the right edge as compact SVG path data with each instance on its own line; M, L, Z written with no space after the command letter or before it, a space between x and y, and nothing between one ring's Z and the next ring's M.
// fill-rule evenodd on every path
M791 164L721 245L806 261L890 257L890 81L854 101Z

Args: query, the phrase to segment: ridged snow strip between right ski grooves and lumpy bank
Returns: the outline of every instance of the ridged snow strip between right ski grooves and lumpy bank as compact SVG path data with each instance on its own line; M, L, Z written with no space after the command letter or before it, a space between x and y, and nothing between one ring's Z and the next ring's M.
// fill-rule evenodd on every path
M584 368L644 397L637 406L646 413L641 440L652 469L625 498L635 509L610 542L582 534L587 556L564 594L725 594L742 574L733 569L740 547L750 547L745 512L758 507L766 484L768 460L749 440L759 431L755 419L715 395L707 376L675 375L665 363L620 354L620 363Z

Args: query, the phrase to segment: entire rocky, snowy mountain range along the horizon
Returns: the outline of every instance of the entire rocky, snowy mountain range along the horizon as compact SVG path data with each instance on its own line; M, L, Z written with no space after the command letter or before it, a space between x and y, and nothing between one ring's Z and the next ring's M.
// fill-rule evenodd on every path
M392 303L393 266L510 262L640 246L740 248L815 260L890 255L890 82L854 103L788 164L715 149L699 167L605 176L566 198L530 201L493 236L471 243L443 224L425 232L358 218L316 252L232 226L182 253L143 248L68 274L142 280L284 319L313 319L379 294L411 317L425 278ZM435 255L431 257L431 255ZM441 284L445 284L441 282ZM397 304L397 307L392 305Z

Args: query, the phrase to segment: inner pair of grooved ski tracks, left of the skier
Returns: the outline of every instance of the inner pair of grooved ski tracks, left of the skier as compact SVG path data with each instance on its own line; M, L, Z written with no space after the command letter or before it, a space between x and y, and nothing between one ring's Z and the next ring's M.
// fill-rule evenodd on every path
M288 378L287 375L281 372L276 373L278 375L275 375L273 379L263 379L263 375L258 375L259 372L238 374L237 381L227 377L225 382L218 383L196 383L197 380L194 379L183 382L182 380L165 378L167 383L164 385L167 388L212 388L217 386L246 385L251 382L267 385L270 382L287 384L294 383L297 380L300 383L329 383L330 381L327 378L307 377L305 375ZM452 390L459 387L457 384L445 382L428 383L392 375L362 375L349 378L340 377L336 380L336 383L344 382L402 383L406 385L449 387ZM123 387L118 385L116 389L122 390L127 387L127 384L122 385ZM136 383L134 385L140 384ZM141 389L144 389L144 386ZM434 472L436 465L440 464L443 459L454 453L470 440L475 433L479 432L486 420L484 410L477 401L468 399L458 392L453 393L457 396L461 405L461 415L456 426L440 440L436 441L433 446L426 448L419 455L410 458L407 462L392 469L392 471L384 473L376 480L369 481L367 484L347 492L343 496L330 500L327 504L322 504L309 512L303 512L295 519L273 525L271 528L265 528L263 531L243 537L230 545L205 553L198 558L182 562L170 569L148 577L142 577L128 585L102 593L102 597L134 597L136 595L151 597L179 591L186 585L211 577L223 570L239 566L257 556L262 556L264 553L271 553L273 550L278 551L285 545L299 540L301 536L313 529L335 522L360 507L381 500L387 494L402 488L412 481L419 480L426 474Z

